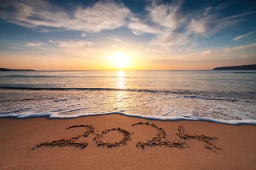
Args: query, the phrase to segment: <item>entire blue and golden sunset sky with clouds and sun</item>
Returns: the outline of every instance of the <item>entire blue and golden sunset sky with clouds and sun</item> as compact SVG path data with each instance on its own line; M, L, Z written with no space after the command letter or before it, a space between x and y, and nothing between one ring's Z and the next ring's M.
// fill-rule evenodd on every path
M255 1L0 1L0 67L177 70L256 64Z

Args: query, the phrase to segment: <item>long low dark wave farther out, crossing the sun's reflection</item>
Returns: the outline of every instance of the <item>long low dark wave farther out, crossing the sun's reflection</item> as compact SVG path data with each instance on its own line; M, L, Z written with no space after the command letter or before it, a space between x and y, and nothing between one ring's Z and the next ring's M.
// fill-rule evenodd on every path
M212 101L231 101L231 102L245 102L256 103L254 91L240 91L240 92L218 92L218 91L190 91L190 90L154 90L154 89L115 89L115 88L69 88L69 87L26 87L26 86L0 86L0 89L6 90L28 90L28 91L130 91L130 92L144 92L151 94L174 94L176 98L195 98L201 100ZM24 101L41 100L42 98L25 98ZM43 98L44 99L44 98ZM48 98L52 99L52 98ZM60 100L60 101L66 101ZM14 100L16 101L16 100ZM17 100L20 101L20 100ZM58 100L54 102L60 102ZM7 102L7 101L4 101Z

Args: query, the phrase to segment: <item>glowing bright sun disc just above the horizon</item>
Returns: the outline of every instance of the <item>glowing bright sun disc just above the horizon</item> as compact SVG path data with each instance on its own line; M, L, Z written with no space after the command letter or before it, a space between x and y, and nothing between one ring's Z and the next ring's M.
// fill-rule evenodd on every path
M124 52L114 52L111 59L114 67L118 69L127 68L129 65L129 57Z

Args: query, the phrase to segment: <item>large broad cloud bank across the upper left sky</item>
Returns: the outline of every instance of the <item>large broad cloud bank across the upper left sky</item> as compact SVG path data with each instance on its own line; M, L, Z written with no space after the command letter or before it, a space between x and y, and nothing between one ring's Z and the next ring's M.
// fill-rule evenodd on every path
M126 25L132 15L123 4L97 2L91 7L65 8L50 4L48 1L12 1L9 7L14 10L1 10L0 17L10 23L43 32L51 30L83 30L98 33Z

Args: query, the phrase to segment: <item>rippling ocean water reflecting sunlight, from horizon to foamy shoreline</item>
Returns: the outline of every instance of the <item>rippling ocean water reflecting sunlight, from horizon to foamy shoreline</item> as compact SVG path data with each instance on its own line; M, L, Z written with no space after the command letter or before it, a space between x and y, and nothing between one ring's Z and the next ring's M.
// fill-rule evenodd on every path
M256 124L256 71L0 72L0 117Z

